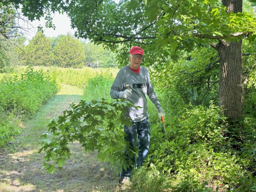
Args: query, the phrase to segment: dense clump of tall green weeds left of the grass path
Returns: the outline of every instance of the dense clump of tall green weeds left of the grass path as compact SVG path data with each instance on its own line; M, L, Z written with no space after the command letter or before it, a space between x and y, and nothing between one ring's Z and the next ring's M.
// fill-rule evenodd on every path
M28 67L24 74L6 77L0 83L0 107L7 113L31 116L43 102L57 93L54 72L34 71Z

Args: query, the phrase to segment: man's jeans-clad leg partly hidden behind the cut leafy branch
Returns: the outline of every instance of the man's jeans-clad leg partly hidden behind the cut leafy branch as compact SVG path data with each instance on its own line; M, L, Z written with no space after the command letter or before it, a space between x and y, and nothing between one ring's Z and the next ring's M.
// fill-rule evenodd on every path
M133 147L137 146L137 122L132 122L133 125L130 125L129 127L127 127L126 125L124 126L124 132L127 134L127 136L124 138L125 141L128 141L130 146L131 146L131 150L133 150ZM128 161L131 160L132 164L134 164L135 162L135 155L129 154L127 151L124 151L125 155L128 158ZM127 167L127 169L125 170L122 167L122 171L120 173L120 177L122 178L129 178L130 177L130 173L132 171L132 166Z

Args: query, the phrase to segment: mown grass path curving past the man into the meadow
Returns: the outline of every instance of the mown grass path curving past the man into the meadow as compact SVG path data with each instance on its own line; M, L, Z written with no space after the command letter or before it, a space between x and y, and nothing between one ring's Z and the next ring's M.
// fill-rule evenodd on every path
M32 119L23 123L22 132L6 151L0 153L0 192L122 191L117 184L118 171L113 165L99 162L97 153L87 154L79 143L71 144L72 157L63 171L46 174L41 170L44 154L38 154L42 133L49 121L79 102L82 90L62 85L60 92L43 105Z

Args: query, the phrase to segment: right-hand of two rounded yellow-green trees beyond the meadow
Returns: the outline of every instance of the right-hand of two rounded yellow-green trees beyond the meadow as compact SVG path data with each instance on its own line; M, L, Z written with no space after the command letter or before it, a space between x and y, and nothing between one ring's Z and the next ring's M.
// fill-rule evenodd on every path
M84 51L78 39L70 34L60 38L53 48L54 63L59 67L81 68L84 63Z

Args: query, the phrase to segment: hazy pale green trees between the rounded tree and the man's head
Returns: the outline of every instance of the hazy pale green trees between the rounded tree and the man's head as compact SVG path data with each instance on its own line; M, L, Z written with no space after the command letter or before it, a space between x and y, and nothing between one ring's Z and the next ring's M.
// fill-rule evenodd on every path
M102 45L81 42L85 53L85 65L90 63L99 63L100 67L117 67L115 60L116 54L110 50L106 50Z

